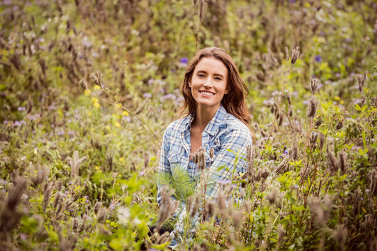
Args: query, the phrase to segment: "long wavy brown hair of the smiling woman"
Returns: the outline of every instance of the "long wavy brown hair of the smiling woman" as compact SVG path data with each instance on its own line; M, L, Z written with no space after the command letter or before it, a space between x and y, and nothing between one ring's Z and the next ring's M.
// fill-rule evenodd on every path
M179 116L195 112L196 102L191 94L191 88L188 86L188 83L191 82L195 66L202 58L218 59L223 62L226 68L228 68L229 74L227 89L229 92L223 96L221 105L223 105L223 107L226 109L226 112L232 114L237 119L242 121L250 130L250 113L246 107L246 102L244 99L244 97L249 93L249 89L239 75L237 66L235 65L232 57L230 57L226 51L218 47L204 48L196 52L193 59L191 59L191 62L186 69L186 73L184 74L184 82L181 86L182 95L184 96L184 104L178 109ZM244 91L246 94L244 94ZM188 112L185 112L186 108L188 108Z

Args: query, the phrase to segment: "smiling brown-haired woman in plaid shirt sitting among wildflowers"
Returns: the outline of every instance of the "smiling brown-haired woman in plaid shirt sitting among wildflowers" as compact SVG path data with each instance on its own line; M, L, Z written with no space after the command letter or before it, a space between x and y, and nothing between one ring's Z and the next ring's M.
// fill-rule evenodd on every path
M208 200L216 197L221 181L230 179L234 172L246 172L246 161L242 157L252 138L244 91L247 93L248 89L239 76L237 66L224 50L208 47L197 52L186 69L182 83L184 105L179 114L184 115L187 109L188 116L172 122L166 129L159 174L174 178L178 169L186 169L192 181L198 180L201 171L191 156L202 147L209 176L205 189ZM237 158L237 163L235 153L241 157ZM161 202L160 190L161 185L158 187L158 204ZM176 211L179 220L172 234L182 234L185 211L186 206L181 203ZM171 248L179 241L179 235L175 236Z

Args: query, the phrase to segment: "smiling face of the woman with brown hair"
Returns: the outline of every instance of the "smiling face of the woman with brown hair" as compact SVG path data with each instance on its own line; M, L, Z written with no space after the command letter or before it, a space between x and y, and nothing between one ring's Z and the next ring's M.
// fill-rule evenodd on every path
M219 59L200 59L193 70L188 86L196 101L196 107L218 109L223 96L228 93L228 68Z

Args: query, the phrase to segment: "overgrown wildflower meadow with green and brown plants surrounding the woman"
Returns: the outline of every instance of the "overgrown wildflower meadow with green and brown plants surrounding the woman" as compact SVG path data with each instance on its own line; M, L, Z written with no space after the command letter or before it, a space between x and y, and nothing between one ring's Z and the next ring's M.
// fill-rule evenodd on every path
M374 0L1 1L0 250L168 250L149 227L172 227L172 193L195 201L179 250L377 250L376 13ZM235 153L249 169L216 201L165 177L161 211L161 139L208 46L249 88L255 140Z

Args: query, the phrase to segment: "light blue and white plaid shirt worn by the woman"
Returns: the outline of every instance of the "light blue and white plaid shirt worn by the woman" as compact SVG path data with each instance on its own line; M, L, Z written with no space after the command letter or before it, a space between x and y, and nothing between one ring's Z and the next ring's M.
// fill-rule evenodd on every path
M190 160L191 123L193 119L194 114L190 114L184 119L170 123L166 129L161 146L159 174L165 172L174 178L177 168L183 168L186 169L191 180L198 179L200 170L193 163L193 160ZM206 169L209 174L205 195L206 200L216 197L221 181L230 180L234 169L236 173L246 172L246 146L251 145L251 143L252 138L249 128L235 116L226 112L226 109L220 105L216 114L214 114L214 117L202 132L202 147L205 148ZM214 155L210 158L209 149L212 148L214 149ZM228 151L228 149L232 151ZM237 158L235 166L235 153L237 152L239 158ZM219 169L219 167L228 167L228 169ZM158 184L158 204L161 202L160 190L161 184ZM175 232L179 234L183 232L183 218L186 215L184 201L180 203L175 214L178 216L178 222L172 235ZM198 220L195 220L193 225L198 223ZM195 229L195 227L192 229ZM173 245L173 243L175 244ZM177 240L175 239L170 247L174 248L176 244Z

